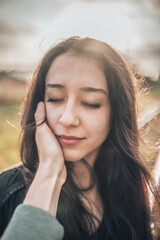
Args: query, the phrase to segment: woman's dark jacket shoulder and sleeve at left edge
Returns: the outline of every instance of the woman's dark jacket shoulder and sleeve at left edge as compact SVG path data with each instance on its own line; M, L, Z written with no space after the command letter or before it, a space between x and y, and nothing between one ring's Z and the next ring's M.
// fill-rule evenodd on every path
M0 173L0 237L8 225L16 207L26 195L26 168L12 166Z

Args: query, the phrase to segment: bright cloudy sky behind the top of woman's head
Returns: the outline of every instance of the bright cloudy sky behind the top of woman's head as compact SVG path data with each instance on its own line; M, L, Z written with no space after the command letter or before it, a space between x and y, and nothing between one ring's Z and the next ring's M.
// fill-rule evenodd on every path
M108 42L156 79L160 69L158 2L0 0L0 71L31 71L53 43L79 35Z

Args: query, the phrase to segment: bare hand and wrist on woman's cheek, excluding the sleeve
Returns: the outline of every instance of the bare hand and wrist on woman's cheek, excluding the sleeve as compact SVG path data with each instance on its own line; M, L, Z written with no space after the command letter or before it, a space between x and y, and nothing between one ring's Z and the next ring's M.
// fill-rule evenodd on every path
M24 204L42 208L56 217L60 191L66 181L66 167L62 149L44 119L45 107L41 102L35 113L39 166Z

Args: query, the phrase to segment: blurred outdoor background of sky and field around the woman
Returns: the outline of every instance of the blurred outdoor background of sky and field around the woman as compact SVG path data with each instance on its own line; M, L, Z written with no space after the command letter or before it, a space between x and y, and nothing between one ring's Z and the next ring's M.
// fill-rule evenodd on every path
M145 76L150 91L139 97L138 123L159 183L160 0L0 0L0 170L20 161L20 106L37 63L73 35L108 42Z

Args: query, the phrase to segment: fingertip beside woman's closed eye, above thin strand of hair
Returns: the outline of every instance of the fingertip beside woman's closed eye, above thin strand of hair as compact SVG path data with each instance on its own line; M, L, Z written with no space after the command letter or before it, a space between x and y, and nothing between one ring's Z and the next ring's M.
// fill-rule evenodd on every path
M45 106L44 102L39 102L37 104L37 109L34 114L35 121L36 121L36 126L39 126L45 121Z

